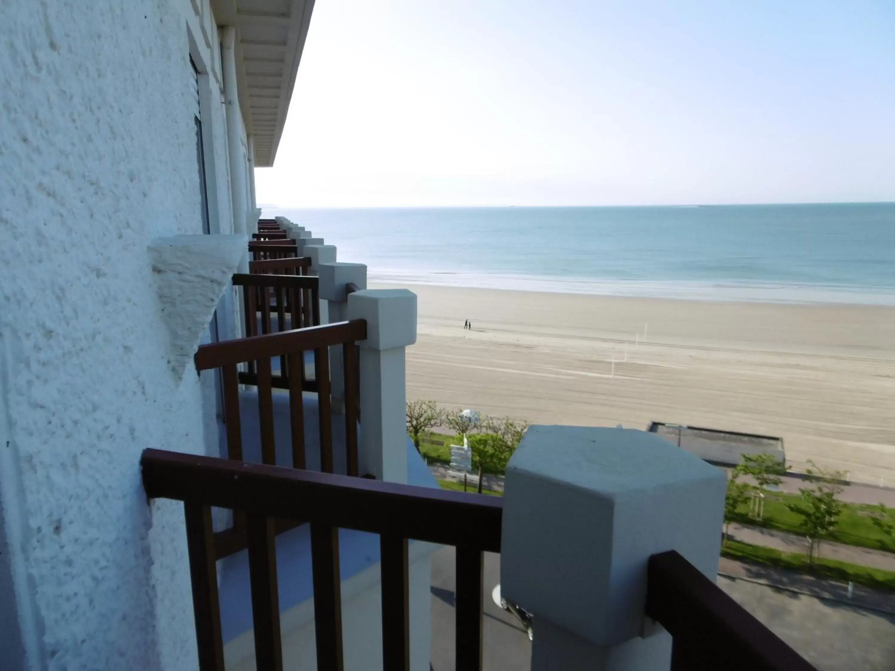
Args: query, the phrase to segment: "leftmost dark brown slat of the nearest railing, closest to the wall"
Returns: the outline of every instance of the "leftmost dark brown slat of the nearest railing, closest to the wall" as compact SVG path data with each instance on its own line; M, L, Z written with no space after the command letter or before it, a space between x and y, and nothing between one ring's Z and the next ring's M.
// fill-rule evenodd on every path
M186 517L186 544L190 553L192 612L196 619L199 668L200 671L224 671L211 507L188 502L183 504L183 514Z

